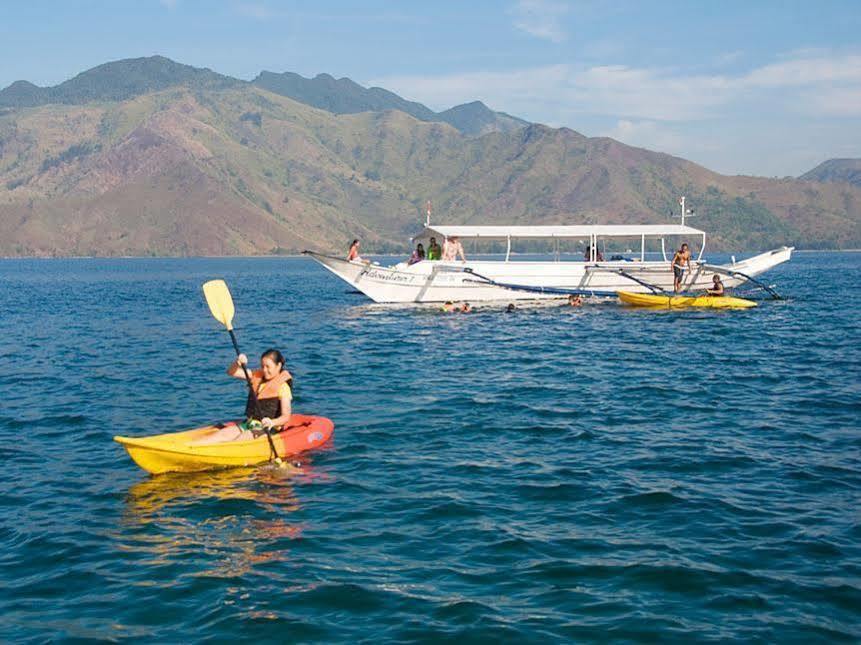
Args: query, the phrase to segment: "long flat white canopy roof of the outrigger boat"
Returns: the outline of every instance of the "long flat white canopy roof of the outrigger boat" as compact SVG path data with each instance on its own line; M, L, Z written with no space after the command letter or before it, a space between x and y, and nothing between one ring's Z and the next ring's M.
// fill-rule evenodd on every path
M705 236L705 232L680 224L578 224L573 226L426 226L413 237L438 235L464 239L558 239L595 237Z

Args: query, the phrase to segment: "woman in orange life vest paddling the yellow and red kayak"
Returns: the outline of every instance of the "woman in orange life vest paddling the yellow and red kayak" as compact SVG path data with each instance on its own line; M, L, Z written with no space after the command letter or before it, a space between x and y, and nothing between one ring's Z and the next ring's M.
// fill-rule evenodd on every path
M245 380L243 365L248 357L240 354L227 368L233 378ZM217 432L196 441L195 445L247 441L259 437L266 430L280 428L290 422L293 377L284 368L284 356L277 349L267 349L260 357L260 369L251 372L251 385L255 399L248 393L245 402L245 421L230 423Z

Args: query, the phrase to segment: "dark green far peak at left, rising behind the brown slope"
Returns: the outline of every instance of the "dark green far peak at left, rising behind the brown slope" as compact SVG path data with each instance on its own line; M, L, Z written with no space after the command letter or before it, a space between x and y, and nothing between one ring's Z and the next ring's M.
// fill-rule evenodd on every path
M16 81L0 90L0 107L124 101L179 85L214 89L236 87L242 83L209 69L183 65L163 56L129 58L99 65L54 87L38 87L27 81Z

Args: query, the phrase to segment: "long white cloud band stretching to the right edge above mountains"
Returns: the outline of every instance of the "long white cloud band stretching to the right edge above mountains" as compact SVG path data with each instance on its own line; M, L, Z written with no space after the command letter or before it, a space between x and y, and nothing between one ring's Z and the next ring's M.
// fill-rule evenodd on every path
M726 116L751 102L775 114L854 115L861 110L861 56L854 54L816 53L736 75L559 64L372 82L437 109L481 99L494 109L542 122L571 123L584 114L631 122L696 121Z

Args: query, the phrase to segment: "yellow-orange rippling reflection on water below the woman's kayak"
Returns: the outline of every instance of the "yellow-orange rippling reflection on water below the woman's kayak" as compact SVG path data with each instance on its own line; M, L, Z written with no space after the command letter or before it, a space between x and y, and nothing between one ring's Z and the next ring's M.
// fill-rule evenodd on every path
M289 519L301 508L293 480L310 471L285 464L150 477L128 489L119 542L147 565L207 560L195 576L237 577L286 560L285 541L303 531Z

